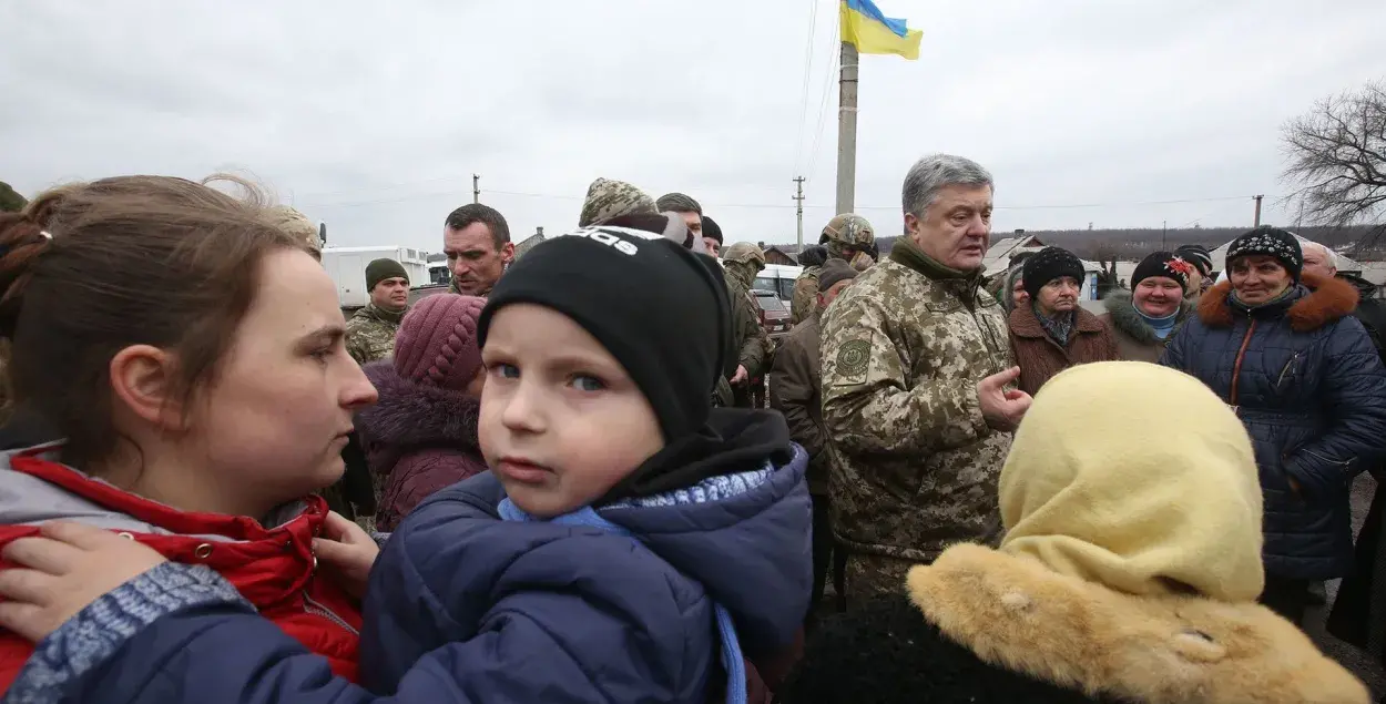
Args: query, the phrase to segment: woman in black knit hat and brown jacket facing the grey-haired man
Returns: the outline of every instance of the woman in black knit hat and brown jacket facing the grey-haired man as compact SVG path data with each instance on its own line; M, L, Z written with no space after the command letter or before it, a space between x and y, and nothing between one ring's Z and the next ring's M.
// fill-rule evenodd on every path
M1112 328L1078 305L1082 276L1082 259L1062 247L1045 247L1026 259L1021 279L1030 301L1010 312L1020 391L1038 394L1055 374L1076 364L1120 359Z

